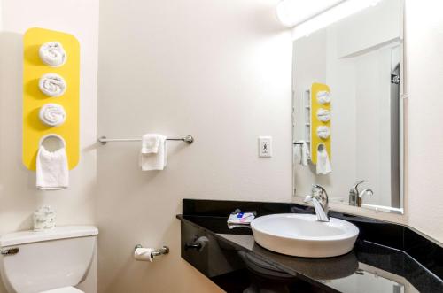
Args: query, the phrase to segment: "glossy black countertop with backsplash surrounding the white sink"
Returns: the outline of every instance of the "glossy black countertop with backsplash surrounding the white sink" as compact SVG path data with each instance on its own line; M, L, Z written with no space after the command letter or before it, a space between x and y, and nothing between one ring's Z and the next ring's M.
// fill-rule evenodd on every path
M419 239L410 230L405 233L403 226L332 212L332 216L349 220L361 230L354 250L335 258L298 258L260 247L254 242L250 227L229 228L228 215L234 210L233 206L244 211L257 211L258 216L282 212L312 212L311 210L297 204L266 206L267 203L226 203L184 199L183 215L177 215L177 218L205 229L219 241L250 253L254 258L276 266L287 274L314 281L330 292L379 293L384 292L384 289L387 292L443 292L441 247ZM203 210L198 208L198 204L204 207ZM214 208L217 204L222 208ZM260 206L253 206L254 204ZM379 239L380 237L383 239ZM406 238L408 241L405 241ZM428 251L417 252L420 247ZM426 258L426 255L431 255L432 259Z

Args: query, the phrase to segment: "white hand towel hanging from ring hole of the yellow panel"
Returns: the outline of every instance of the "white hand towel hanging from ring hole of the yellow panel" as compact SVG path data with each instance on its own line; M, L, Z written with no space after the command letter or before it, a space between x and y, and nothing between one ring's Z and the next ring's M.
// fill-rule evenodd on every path
M40 145L36 167L38 189L66 189L69 185L66 150L64 147L48 151Z

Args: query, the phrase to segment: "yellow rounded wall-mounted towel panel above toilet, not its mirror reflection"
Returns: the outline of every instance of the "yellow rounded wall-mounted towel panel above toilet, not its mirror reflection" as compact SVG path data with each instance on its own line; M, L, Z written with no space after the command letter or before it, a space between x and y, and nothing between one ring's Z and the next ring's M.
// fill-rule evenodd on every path
M66 63L51 67L39 57L40 46L45 42L60 42L66 50ZM79 86L80 45L74 35L43 28L30 28L24 35L23 60L23 164L35 170L36 154L44 135L56 134L65 139L69 169L79 161ZM46 73L61 75L67 84L62 96L45 96L39 89L40 77ZM43 104L56 103L65 108L66 122L59 127L49 127L39 119Z

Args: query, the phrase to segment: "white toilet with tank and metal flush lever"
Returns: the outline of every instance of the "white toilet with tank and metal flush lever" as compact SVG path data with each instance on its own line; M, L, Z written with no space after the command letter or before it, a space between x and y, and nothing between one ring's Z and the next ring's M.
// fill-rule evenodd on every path
M54 227L0 237L0 273L8 293L80 293L89 273L97 227Z

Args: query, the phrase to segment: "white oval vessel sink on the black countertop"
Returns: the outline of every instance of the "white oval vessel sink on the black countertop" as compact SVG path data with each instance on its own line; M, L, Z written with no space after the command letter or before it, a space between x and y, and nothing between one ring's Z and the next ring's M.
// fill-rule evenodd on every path
M313 214L282 213L251 222L256 243L295 257L329 258L354 248L359 229L346 220L321 222Z

